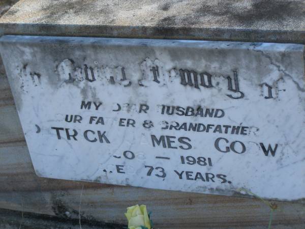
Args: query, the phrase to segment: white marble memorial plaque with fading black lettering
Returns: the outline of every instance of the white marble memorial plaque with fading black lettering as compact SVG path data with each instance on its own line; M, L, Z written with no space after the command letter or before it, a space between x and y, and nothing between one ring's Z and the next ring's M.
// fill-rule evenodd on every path
M305 197L304 45L4 36L38 176Z

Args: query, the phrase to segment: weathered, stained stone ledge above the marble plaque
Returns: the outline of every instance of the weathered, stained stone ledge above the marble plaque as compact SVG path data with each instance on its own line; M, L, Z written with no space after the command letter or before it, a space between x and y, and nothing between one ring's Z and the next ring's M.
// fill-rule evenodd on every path
M303 0L21 0L0 33L305 43Z

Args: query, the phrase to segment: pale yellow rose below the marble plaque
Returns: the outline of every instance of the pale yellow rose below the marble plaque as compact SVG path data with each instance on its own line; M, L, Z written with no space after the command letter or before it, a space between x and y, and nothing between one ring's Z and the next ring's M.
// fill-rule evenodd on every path
M151 229L150 221L148 218L146 205L135 205L127 208L125 213L126 218L128 219L128 228L129 229L141 229L141 226L145 226L148 229Z

